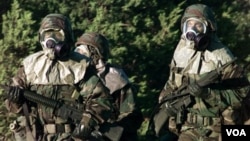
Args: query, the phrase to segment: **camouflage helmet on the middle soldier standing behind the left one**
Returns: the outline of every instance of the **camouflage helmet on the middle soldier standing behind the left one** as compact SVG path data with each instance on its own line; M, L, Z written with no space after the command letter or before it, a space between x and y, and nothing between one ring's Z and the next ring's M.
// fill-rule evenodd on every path
M84 33L80 38L78 38L75 46L79 45L89 45L95 49L97 55L103 61L107 61L109 57L109 42L108 40L99 33L91 32ZM91 49L90 49L91 50Z

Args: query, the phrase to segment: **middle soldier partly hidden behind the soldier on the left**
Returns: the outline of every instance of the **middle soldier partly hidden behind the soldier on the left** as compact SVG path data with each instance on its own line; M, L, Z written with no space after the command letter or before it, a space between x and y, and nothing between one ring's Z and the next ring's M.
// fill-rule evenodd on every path
M84 33L76 42L76 52L91 58L97 74L114 98L117 118L112 124L124 128L121 141L137 140L137 129L142 123L142 114L136 102L136 91L125 72L108 63L109 43L99 33Z

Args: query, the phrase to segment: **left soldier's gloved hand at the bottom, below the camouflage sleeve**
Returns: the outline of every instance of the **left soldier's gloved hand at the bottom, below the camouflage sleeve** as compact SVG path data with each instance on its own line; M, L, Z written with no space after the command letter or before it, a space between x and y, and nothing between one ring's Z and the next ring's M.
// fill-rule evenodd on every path
M73 131L73 137L78 139L89 139L91 136L91 132L94 130L93 123L95 121L91 119L90 114L83 114L82 120L79 124L76 125Z

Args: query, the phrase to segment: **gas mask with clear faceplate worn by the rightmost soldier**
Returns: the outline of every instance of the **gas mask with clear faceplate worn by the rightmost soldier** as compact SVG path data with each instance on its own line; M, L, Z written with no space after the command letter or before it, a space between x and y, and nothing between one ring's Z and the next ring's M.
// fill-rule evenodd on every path
M189 18L183 24L185 38L194 42L194 47L198 51L205 50L209 44L207 35L207 22L197 18Z

